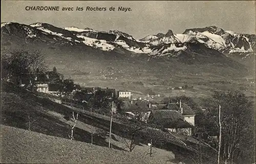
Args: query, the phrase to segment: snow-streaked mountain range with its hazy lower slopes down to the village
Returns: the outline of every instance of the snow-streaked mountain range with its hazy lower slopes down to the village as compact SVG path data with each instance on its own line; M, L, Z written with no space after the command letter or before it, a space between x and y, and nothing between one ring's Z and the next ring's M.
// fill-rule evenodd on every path
M132 90L138 97L147 89L165 96L207 97L213 90L239 87L255 95L248 79L255 78L255 35L215 26L137 39L118 30L2 23L1 50L15 49L40 50L49 69L55 66L82 86ZM194 87L168 89L184 85Z

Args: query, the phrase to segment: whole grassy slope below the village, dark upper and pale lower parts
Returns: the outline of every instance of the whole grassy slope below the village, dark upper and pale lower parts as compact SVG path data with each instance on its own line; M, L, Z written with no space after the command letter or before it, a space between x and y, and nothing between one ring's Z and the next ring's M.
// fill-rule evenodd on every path
M113 150L110 150L108 136L95 135L93 145L88 144L91 143L92 121L98 123L95 125L97 128L106 131L109 131L110 125L108 120L97 119L90 113L81 113L74 128L74 140L71 141L68 139L70 125L65 116L75 109L36 96L27 90L17 90L6 83L2 84L1 163L176 162L174 158L179 153L174 156L175 150L155 148L153 157L149 157L145 155L148 152L147 145L140 144L133 152L129 152L123 148L120 139L115 140ZM30 127L29 122L33 122ZM116 135L118 127L118 124L113 123L115 138L120 138Z

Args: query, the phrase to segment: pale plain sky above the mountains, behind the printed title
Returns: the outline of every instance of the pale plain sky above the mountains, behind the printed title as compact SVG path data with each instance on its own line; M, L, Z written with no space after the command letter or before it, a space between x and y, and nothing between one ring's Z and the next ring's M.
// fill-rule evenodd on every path
M83 7L83 11L26 11L26 6ZM110 7L132 11L108 11ZM106 7L107 11L85 11ZM189 28L217 26L238 33L255 34L253 1L1 1L1 21L57 27L75 26L99 31L119 30L141 39L147 35L183 33Z

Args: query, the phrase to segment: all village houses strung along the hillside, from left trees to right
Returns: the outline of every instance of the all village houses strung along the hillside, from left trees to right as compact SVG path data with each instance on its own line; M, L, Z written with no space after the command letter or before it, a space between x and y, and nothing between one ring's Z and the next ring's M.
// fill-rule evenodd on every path
M34 90L37 92L50 93L52 95L61 91L61 85L59 83L50 83L53 79L59 80L59 75L52 72L44 74L38 74L35 77ZM30 84L30 81L26 76L20 80L20 85L25 86ZM74 96L76 100L86 100L87 95L95 93L97 90L102 90L109 93L110 97L116 96L116 90L110 88L100 87L85 87L86 95L79 95L79 85L74 84L74 87L78 89L77 94ZM70 92L73 90L71 89ZM117 106L117 112L124 114L127 118L140 119L140 121L155 124L162 130L169 132L188 135L192 134L195 126L195 112L185 103L181 101L178 103L168 104L152 104L150 101L132 99L132 92L128 90L117 91L117 97L121 100L121 103ZM140 118L138 118L138 115Z

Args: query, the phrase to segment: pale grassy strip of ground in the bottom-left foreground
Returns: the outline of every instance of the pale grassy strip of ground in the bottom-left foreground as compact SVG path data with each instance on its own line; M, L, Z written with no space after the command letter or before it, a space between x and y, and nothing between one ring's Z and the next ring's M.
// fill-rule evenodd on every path
M143 152L110 150L5 125L1 145L1 163L166 163Z

